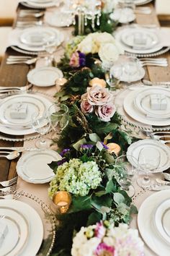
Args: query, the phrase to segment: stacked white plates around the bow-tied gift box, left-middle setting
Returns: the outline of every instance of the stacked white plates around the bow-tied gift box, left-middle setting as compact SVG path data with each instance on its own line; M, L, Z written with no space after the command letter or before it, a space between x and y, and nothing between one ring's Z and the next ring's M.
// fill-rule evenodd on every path
M27 104L27 116L25 119L12 119L10 111L13 104ZM0 131L8 135L29 135L34 133L32 128L32 114L37 113L41 116L52 103L40 95L29 93L12 95L0 103ZM26 126L26 127L24 127Z

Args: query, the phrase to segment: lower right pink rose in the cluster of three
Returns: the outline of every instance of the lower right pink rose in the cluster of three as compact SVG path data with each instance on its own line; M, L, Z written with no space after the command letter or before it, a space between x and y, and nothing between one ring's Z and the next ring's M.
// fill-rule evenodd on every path
M102 121L110 121L111 117L115 114L115 106L112 103L108 103L104 106L98 106L95 114Z

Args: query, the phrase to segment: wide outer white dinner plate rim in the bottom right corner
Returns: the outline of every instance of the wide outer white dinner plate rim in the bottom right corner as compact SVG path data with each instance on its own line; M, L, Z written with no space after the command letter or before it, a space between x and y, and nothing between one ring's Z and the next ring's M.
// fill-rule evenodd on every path
M138 229L143 240L159 256L169 255L169 245L161 239L153 224L154 213L158 205L169 199L169 190L156 192L140 205L138 211Z

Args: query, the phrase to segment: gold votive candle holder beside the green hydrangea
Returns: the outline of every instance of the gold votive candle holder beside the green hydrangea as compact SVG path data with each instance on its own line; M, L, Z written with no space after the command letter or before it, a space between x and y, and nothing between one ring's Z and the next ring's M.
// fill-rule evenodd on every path
M66 191L58 191L53 195L53 203L59 213L66 213L71 205L71 195Z

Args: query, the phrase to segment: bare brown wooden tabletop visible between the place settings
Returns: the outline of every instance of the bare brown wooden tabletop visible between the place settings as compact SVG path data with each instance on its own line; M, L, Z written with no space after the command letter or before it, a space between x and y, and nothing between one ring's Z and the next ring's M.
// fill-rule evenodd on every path
M137 22L138 24L157 24L158 18L156 17L156 13L154 11L152 4L147 4L153 9L153 12L150 15L138 14ZM25 7L19 6L19 9L26 9ZM18 9L18 11L19 11ZM0 85L1 86L24 86L27 84L27 72L30 68L27 64L14 64L14 65L6 65L6 58L9 55L24 55L19 54L16 51L8 48L4 55L4 59L1 62L0 67ZM166 57L169 60L169 67L147 67L146 68L146 79L151 80L152 82L167 82L170 81L170 54L164 54L158 57ZM22 146L22 142L9 142L0 140L1 146ZM0 158L0 181L4 181L6 179L12 179L16 176L16 164L17 159L14 161L9 161L4 158Z

